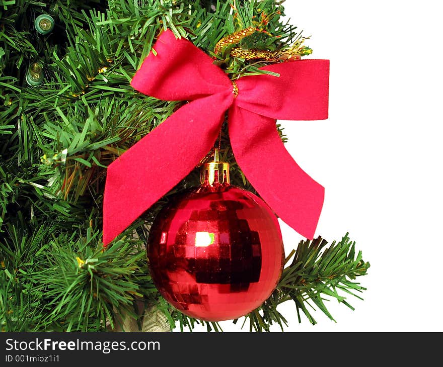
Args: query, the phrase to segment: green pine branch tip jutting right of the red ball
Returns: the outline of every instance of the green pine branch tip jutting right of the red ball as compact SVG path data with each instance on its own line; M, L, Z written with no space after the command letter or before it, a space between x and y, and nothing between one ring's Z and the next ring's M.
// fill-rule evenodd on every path
M277 306L290 300L296 304L299 322L303 313L313 325L317 323L311 311L315 306L335 321L325 305L325 296L354 309L345 295L362 299L358 293L365 288L354 280L366 274L370 263L362 260L361 251L355 253L355 242L350 241L348 234L329 247L326 244L321 237L301 241L297 250L289 254L286 263L291 258L292 261L284 268L276 290L260 309L247 316L251 329L268 330L274 322L280 327L286 325Z

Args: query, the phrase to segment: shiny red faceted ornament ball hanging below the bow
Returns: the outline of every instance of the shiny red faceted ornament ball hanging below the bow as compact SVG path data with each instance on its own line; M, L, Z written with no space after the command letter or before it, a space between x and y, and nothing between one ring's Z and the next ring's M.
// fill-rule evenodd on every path
M253 311L271 295L283 268L277 218L260 198L229 184L174 197L154 221L148 245L157 289L200 320Z

